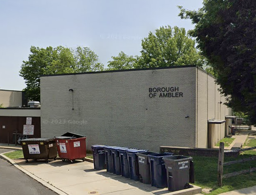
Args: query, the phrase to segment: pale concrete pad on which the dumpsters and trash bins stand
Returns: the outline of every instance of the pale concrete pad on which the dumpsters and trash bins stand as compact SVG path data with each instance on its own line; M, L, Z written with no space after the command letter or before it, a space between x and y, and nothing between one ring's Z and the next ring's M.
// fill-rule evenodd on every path
M77 160L75 163L61 160L45 163L44 161L15 160L18 166L44 182L62 191L62 194L109 194L109 195L192 195L201 192L201 188L193 188L170 192L167 188L159 189L149 184L131 180L108 173L106 170L96 171L93 163ZM193 192L192 192L193 191ZM183 192L183 193L181 193ZM185 192L185 193L184 193Z

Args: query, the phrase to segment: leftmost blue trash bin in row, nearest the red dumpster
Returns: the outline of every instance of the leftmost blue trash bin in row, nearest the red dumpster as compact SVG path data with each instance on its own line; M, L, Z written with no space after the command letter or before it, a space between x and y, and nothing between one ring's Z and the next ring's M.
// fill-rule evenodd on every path
M106 169L106 157L104 145L93 145L92 155L93 155L93 165L96 170Z

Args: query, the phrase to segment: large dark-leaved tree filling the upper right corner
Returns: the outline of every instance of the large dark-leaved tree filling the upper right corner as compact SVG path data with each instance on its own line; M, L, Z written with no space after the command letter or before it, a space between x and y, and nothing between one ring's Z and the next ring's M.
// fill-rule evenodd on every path
M217 72L227 105L256 124L256 1L204 0L198 11L179 8L195 24L189 33Z

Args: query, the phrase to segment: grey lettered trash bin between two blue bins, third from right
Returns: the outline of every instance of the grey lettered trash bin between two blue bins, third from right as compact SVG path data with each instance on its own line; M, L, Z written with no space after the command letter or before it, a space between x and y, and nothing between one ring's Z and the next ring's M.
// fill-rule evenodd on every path
M139 164L139 181L143 184L150 184L150 165L148 162L148 155L157 154L156 152L139 152L136 155L138 156Z

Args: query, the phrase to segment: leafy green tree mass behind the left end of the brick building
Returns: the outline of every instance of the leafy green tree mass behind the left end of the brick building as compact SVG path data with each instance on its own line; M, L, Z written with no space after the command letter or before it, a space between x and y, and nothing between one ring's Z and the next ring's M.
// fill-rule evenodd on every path
M30 47L28 61L23 61L20 69L27 84L25 93L28 99L40 101L40 76L63 73L103 70L98 56L88 47Z

